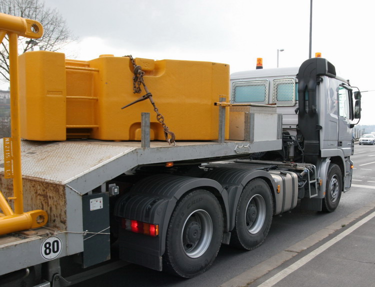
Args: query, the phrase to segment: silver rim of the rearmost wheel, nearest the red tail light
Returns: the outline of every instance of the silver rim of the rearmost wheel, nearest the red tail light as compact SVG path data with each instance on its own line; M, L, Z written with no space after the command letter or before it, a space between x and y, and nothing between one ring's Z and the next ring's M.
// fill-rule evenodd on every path
M185 254L191 258L202 255L211 242L212 233L211 216L202 209L191 212L182 227L181 243Z

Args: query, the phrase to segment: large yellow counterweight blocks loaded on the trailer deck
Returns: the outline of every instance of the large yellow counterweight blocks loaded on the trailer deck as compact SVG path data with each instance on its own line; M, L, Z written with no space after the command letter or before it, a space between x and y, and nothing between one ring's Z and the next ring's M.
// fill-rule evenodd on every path
M142 58L135 62L177 140L217 139L219 111L214 102L229 93L227 64ZM150 112L150 139L164 140L148 100L121 109L145 94L133 93L133 65L127 56L79 61L65 59L62 53L32 51L19 56L19 69L22 138L140 140L140 113Z

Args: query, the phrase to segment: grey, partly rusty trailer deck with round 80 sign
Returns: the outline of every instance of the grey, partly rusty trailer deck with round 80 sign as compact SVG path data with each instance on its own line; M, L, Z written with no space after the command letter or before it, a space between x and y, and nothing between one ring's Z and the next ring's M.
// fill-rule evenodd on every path
M4 178L3 146L0 142L0 188L4 196L9 197L12 196L12 183L11 179ZM24 209L45 210L49 216L48 226L0 236L0 275L81 252L84 241L97 234L109 237L109 224L100 230L84 228L82 195L89 194L98 186L105 188L106 181L136 166L168 161L217 161L280 148L281 139L253 142L227 140L224 143L183 141L176 145L151 141L147 148L142 148L139 141L22 140ZM93 210L100 207L95 207L95 202L89 202ZM43 248L51 243L48 243L48 238L59 241L56 244L60 247L49 257L42 254Z

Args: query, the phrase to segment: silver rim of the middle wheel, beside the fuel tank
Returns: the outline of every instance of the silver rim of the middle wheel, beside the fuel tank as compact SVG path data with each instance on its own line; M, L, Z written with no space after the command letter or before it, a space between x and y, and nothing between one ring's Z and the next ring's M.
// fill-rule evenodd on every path
M245 212L247 231L251 234L259 232L265 220L265 201L260 194L255 194L248 201Z

